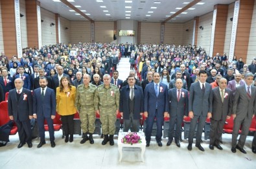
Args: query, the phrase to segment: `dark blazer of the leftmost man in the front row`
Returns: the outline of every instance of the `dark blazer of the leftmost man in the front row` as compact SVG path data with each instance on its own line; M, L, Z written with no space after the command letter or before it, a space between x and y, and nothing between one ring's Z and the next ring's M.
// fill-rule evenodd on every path
M27 98L25 99L25 95ZM29 120L29 116L32 116L32 95L29 89L23 87L21 96L17 100L16 89L9 91L8 95L8 115L14 116L14 120L17 121L19 115L19 121Z

